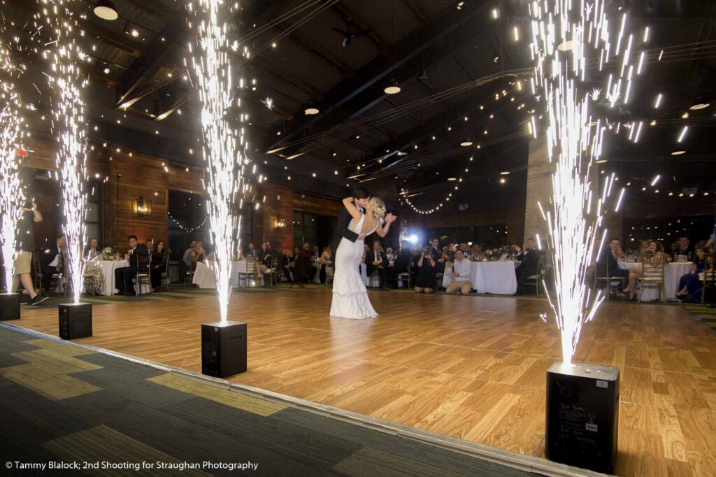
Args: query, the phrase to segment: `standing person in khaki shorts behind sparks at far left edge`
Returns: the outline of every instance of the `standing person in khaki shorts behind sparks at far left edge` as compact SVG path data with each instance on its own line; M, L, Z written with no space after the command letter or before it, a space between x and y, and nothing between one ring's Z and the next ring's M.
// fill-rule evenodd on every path
M27 207L29 206L29 207ZM26 203L20 207L22 215L17 221L17 231L15 233L15 249L17 251L17 257L15 259L15 271L10 286L11 293L17 291L17 287L22 284L22 287L27 290L30 301L28 304L36 306L47 300L49 297L40 297L35 293L35 288L32 286L32 252L35 250L35 238L33 231L33 223L42 222L42 213L37 210L37 204Z

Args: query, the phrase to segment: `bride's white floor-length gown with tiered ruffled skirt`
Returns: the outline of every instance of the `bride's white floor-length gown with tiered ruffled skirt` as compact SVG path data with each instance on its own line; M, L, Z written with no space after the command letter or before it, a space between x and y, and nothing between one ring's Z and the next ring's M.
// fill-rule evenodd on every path
M350 231L360 233L365 216L358 223L354 219L348 224ZM375 231L366 233L369 236ZM341 238L336 250L335 271L333 275L333 302L331 303L331 316L338 318L364 319L377 317L378 314L370 304L365 284L358 272L358 266L363 256L363 241L349 241ZM364 265L365 266L365 265Z

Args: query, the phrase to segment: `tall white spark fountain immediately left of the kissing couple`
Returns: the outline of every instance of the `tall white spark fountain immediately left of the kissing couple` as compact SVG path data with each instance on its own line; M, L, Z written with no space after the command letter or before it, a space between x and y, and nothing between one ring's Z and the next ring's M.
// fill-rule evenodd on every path
M208 216L211 242L214 247L216 294L222 322L228 319L231 299L231 255L238 241L240 217L235 211L237 191L241 191L246 141L243 127L233 127L229 120L236 117L241 98L234 97L243 82L233 85L231 78L231 44L227 38L226 19L236 14L233 2L198 0L200 16L192 59L196 87L201 102L201 127L205 147L208 183ZM237 88L238 86L238 88ZM243 123L246 115L238 115Z

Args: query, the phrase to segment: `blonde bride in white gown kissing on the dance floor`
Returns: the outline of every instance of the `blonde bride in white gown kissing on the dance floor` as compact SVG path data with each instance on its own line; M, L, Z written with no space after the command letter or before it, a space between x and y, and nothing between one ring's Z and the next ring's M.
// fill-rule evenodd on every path
M385 203L379 197L370 199L365 214L354 205L352 197L344 198L343 205L352 216L348 224L349 230L360 236L369 236L377 232L379 236L384 237L388 233L390 224L397 218L392 213L385 216ZM352 242L347 238L341 238L334 261L332 317L364 319L378 316L370 304L365 284L358 271L362 256L362 239Z

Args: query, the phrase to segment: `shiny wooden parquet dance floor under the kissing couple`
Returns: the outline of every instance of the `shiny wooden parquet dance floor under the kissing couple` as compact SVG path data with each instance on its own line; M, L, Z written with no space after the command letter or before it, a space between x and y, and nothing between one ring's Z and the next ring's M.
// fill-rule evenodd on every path
M92 344L200 371L215 297L94 307ZM541 299L374 291L380 317L329 319L329 289L235 295L248 372L231 381L455 438L543 456L545 370L558 332ZM57 309L21 327L57 335ZM577 361L621 369L621 476L716 475L716 335L681 307L609 303Z

